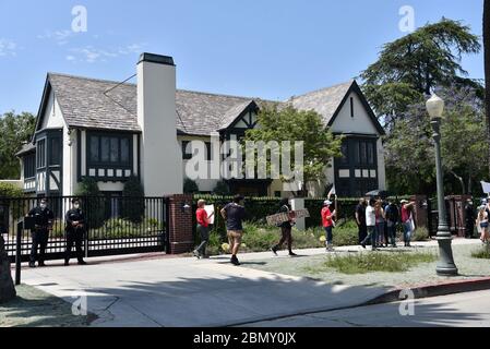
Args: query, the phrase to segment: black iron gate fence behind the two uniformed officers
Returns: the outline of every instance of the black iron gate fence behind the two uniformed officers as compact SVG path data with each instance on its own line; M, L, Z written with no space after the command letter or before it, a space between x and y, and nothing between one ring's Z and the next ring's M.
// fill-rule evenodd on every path
M47 260L64 257L65 213L72 208L72 196L46 197L55 214L46 249ZM85 216L86 257L167 251L168 198L91 196L77 197ZM12 261L20 253L28 260L31 230L24 229L24 218L39 204L40 197L0 198L0 233Z

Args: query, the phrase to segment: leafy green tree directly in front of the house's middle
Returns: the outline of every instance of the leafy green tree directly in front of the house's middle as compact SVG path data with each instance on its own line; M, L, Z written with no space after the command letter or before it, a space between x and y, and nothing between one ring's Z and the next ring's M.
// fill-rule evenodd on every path
M291 142L291 168L295 170L295 142L303 142L303 181L304 183L325 180L325 168L332 166L335 157L340 157L342 137L335 136L325 127L322 117L314 110L300 111L292 106L278 109L277 105L264 106L258 117L260 128L247 131L244 142L263 141ZM256 158L256 157L255 157ZM271 168L271 156L267 156L267 165ZM283 181L287 179L283 178ZM307 185L303 185L302 195L307 194Z

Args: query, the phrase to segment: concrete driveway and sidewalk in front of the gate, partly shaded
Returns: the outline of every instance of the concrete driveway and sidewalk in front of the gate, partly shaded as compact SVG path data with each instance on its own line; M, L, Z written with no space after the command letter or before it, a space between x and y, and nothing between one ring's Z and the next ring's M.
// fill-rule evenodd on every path
M323 253L323 249L300 251L304 256ZM155 256L135 261L95 258L88 261L88 266L63 267L52 263L47 268L24 269L22 278L23 282L69 302L85 294L88 311L99 317L93 326L230 326L359 305L386 291L332 286L247 267L273 258L270 252L240 257L241 267L231 266L228 256L205 261Z

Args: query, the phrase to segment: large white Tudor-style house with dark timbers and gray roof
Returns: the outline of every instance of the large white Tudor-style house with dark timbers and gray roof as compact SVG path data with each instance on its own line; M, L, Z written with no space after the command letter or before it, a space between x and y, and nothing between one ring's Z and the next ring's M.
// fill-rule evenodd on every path
M73 195L89 177L100 191L120 195L131 176L141 179L147 196L180 193L190 156L183 151L187 143L210 143L211 134L222 141L240 137L256 127L260 106L267 103L176 89L171 57L143 53L136 75L136 84L47 75L35 133L17 154L26 193ZM344 156L325 169L327 183L313 185L311 195L322 195L331 184L340 196L385 189L383 129L355 81L279 104L313 109L325 127L345 136ZM202 192L212 192L217 182L198 180ZM286 194L278 181L227 183L247 195Z

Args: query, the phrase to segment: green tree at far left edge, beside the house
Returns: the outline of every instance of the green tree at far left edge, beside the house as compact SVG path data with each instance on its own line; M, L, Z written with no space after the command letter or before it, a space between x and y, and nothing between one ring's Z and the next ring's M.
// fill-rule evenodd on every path
M36 125L32 113L0 116L0 179L19 179L21 165L15 154L25 142L31 141Z

